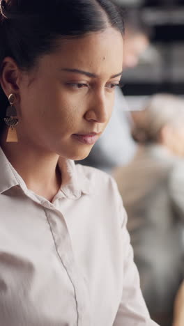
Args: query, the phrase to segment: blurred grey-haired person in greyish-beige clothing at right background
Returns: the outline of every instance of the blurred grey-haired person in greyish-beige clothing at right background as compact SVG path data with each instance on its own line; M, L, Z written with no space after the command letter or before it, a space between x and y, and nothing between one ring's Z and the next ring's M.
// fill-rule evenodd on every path
M184 100L153 95L146 109L133 117L132 135L139 150L113 176L128 212L148 310L161 326L170 326L183 279Z

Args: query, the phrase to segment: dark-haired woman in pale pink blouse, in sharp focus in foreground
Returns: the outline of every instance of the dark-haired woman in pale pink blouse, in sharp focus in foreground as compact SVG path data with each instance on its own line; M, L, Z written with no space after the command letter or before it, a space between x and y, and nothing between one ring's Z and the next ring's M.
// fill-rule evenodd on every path
M155 325L114 181L73 162L109 121L122 35L109 0L1 1L3 326Z

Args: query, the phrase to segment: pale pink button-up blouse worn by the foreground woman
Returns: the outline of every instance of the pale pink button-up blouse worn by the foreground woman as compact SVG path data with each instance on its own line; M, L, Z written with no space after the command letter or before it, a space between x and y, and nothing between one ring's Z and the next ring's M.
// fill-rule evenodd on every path
M52 203L0 148L0 325L154 326L139 288L114 180L61 166Z

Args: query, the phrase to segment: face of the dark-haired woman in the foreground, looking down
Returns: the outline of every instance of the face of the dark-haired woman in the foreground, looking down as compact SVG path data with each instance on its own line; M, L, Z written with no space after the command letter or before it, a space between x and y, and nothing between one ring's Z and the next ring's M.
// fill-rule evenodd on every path
M112 114L122 58L121 33L109 27L62 40L34 70L22 72L20 141L73 160L86 157Z

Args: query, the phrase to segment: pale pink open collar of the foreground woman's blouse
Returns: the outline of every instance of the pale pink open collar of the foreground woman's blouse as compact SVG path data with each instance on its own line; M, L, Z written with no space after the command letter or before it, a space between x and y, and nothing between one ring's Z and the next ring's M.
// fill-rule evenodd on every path
M13 166L8 161L6 155L0 147L0 194L16 185L25 191L24 180L15 171ZM60 192L70 199L77 199L82 194L89 194L91 192L91 182L85 176L82 169L78 169L75 162L72 160L59 160L59 169L62 172L62 185Z

